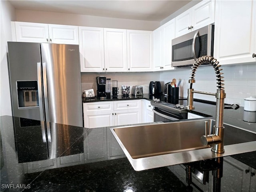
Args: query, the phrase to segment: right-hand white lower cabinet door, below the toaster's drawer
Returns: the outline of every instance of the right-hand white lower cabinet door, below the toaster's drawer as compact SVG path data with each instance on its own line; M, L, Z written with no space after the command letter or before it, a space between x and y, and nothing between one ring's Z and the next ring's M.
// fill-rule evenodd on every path
M141 123L140 110L119 110L115 111L114 124L115 125L130 125Z

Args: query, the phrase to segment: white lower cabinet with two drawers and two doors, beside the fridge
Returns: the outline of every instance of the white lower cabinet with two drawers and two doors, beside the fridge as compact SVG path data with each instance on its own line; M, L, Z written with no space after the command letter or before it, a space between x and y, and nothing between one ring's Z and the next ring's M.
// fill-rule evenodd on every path
M84 103L84 127L96 128L141 123L141 101Z

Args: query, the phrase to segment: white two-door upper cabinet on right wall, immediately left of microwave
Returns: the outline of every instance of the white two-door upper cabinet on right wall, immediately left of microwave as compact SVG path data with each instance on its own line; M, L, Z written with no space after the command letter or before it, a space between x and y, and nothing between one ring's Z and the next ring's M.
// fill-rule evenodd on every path
M172 39L175 38L175 19L160 26L153 32L154 71L173 70Z

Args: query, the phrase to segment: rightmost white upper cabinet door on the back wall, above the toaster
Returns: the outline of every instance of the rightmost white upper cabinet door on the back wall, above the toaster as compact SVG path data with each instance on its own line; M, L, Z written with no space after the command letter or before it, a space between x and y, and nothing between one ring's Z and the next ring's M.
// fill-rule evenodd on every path
M127 62L130 72L152 71L152 31L127 30Z

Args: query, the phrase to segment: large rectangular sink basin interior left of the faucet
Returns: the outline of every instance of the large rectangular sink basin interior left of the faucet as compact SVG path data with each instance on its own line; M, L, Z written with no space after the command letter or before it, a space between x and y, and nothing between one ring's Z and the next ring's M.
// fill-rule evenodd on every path
M200 140L204 121L114 128L114 132L135 159L208 147Z

